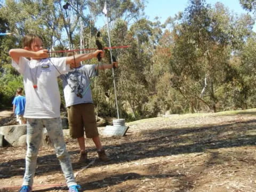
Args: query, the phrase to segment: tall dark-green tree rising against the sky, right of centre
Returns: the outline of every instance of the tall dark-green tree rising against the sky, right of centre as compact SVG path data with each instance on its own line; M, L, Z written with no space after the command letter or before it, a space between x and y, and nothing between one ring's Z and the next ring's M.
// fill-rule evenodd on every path
M173 60L170 62L173 74L171 83L185 99L187 107L190 106L191 112L194 112L199 93L203 89L200 83L210 75L207 68L211 64L207 61L211 60L207 57L209 58L209 49L214 43L211 41L210 5L206 5L205 1L190 1L190 6L182 14L181 24L175 26L174 33ZM215 103L214 95L212 98Z

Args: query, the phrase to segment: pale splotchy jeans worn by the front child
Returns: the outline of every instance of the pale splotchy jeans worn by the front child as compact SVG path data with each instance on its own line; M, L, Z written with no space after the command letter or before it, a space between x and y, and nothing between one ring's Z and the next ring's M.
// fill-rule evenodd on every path
M57 157L59 158L60 166L65 175L68 187L71 185L77 185L73 174L69 154L66 150L66 143L63 137L61 119L59 117L27 119L26 171L22 185L33 185L33 178L36 171L36 159L42 138L43 126L46 127L51 142L54 145L55 152Z

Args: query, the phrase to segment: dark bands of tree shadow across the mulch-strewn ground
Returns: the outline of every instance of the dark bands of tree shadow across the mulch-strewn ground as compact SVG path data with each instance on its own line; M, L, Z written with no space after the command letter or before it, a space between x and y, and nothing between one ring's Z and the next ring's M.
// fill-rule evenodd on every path
M167 127L156 131L145 131L139 135L129 135L123 138L102 138L103 143L111 143L105 146L108 154L114 157L110 162L95 162L93 166L116 164L150 157L162 157L178 154L201 153L209 149L253 146L256 142L256 134L252 134L256 125L256 120L222 125L212 125L206 127ZM118 144L115 141L118 140ZM93 148L89 149L94 151ZM78 154L78 151L69 151L70 156ZM215 159L218 154L211 154L211 159ZM212 160L213 161L213 160ZM209 161L211 163L211 161ZM45 173L51 174L60 171L58 159L55 154L38 157L38 167L36 175ZM44 166L41 166L44 165ZM0 178L10 178L15 175L23 175L25 159L4 162L0 164ZM74 171L81 169L81 164L73 163ZM94 182L84 183L82 187L86 189L98 189L101 187L116 185L129 179L141 178L161 178L161 177L180 177L175 173L143 175L138 173L125 173L108 175L104 179ZM118 179L115 179L118 178ZM78 181L79 182L79 181ZM56 189L56 188L52 188ZM37 190L37 192L48 191L51 189Z

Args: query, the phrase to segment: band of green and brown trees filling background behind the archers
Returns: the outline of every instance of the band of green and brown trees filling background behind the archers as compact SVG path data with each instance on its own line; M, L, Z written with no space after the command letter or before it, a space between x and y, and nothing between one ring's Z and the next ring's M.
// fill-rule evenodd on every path
M15 90L22 86L22 77L10 65L8 54L20 47L21 37L27 33L41 35L49 50L67 50L71 43L79 49L81 39L85 48L95 47L99 30L95 22L102 17L104 2L71 1L75 9L68 10L68 18L62 9L66 1L5 1L0 7L0 31L15 35L0 37L0 107L10 107ZM256 39L250 15L238 17L221 3L211 6L204 0L190 0L183 13L168 18L163 25L158 18L149 21L144 17L145 2L107 1L111 45L130 45L129 49L112 50L119 61L115 83L122 118L132 121L166 113L256 106ZM244 9L255 11L255 1L240 3ZM100 41L108 46L106 27L100 31ZM109 62L108 54L106 51L105 63ZM98 64L98 60L85 63ZM96 113L117 117L112 71L100 71L92 81ZM59 86L61 90L61 82Z

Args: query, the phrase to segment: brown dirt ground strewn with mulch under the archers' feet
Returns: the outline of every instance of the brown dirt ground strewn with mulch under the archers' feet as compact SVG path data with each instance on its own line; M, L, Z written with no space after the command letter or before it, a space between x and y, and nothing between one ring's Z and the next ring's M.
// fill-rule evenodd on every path
M78 145L65 130L83 191L256 191L256 109L167 115L126 125L125 137L101 136L112 158L107 163L98 161L93 142L86 139L90 163L78 164ZM19 190L25 154L25 147L0 148L0 191ZM53 148L39 151L33 189L67 191Z

